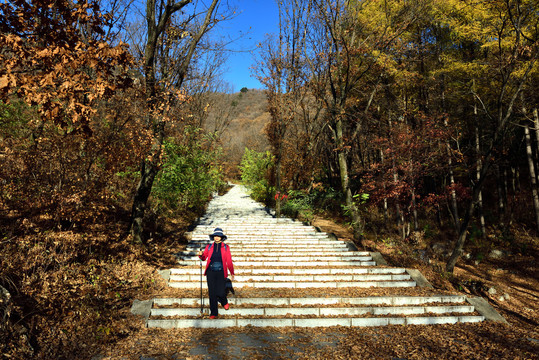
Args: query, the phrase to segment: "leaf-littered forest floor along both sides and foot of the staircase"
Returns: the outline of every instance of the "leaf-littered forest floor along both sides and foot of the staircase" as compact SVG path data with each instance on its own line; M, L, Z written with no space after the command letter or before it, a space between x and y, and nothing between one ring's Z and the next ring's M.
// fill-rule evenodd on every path
M9 213L0 220L7 229L0 284L11 293L9 305L0 302L2 359L539 359L538 240L516 230L500 247L501 259L469 249L473 256L454 276L441 270L442 256L424 250L422 236L358 244L392 266L420 270L440 292L486 298L508 324L160 330L144 328L130 307L171 294L157 270L174 266L189 221L163 223L135 245L122 236L125 224L106 216L84 229L54 231L41 230L43 217ZM333 221L313 225L351 239Z

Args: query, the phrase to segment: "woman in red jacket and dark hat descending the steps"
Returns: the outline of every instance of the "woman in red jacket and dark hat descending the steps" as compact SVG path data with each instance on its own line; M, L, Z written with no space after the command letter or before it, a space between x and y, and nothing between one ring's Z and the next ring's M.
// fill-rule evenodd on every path
M213 234L210 235L210 240L213 240L213 243L206 245L204 251L199 251L197 255L202 261L208 259L204 275L208 281L210 319L215 319L219 316L217 302L220 302L225 310L230 308L226 298L225 279L230 271L231 278L234 280L234 265L230 247L223 242L226 240L223 230L215 228Z

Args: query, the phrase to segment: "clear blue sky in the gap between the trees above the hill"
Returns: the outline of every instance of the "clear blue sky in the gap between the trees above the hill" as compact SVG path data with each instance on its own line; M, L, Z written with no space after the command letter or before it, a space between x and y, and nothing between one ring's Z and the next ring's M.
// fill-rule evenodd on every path
M224 80L236 92L242 87L261 89L263 87L260 82L251 77L249 67L253 64L253 53L249 50L255 50L256 45L264 40L265 34L278 32L277 4L275 0L234 0L230 3L237 8L237 16L222 23L223 31L232 38L245 33L248 35L230 46L241 52L229 54Z

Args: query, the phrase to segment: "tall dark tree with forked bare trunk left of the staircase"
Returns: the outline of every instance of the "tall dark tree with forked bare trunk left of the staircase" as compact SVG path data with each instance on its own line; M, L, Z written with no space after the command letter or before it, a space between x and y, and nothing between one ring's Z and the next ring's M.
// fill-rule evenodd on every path
M210 6L202 12L194 6L192 13L183 18L180 26L173 27L171 21L173 14L185 13L187 6L191 3L191 0L179 2L147 0L146 2L147 37L144 48L144 77L146 81L147 122L153 131L153 144L150 153L142 161L141 178L133 200L130 228L135 242L142 242L142 220L155 176L159 171L165 137L166 112L171 107L171 101L175 100L171 93L164 93L161 90L182 88L191 60L203 36L217 22L215 14L219 1L212 0ZM197 23L196 20L200 22ZM174 42L183 45L179 48L176 47L177 52L171 49ZM177 56L174 58L175 61L163 62L171 60L170 54ZM161 83L157 78L156 66L159 55L162 62L159 69Z

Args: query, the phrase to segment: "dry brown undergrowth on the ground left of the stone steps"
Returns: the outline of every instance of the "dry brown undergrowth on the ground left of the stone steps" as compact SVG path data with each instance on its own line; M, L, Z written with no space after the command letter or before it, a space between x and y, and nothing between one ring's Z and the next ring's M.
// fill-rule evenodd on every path
M193 217L134 244L125 222L101 215L83 231L47 229L43 216L2 219L0 285L11 299L0 302L0 358L91 358L141 329L130 306L165 288L156 269L175 263Z

